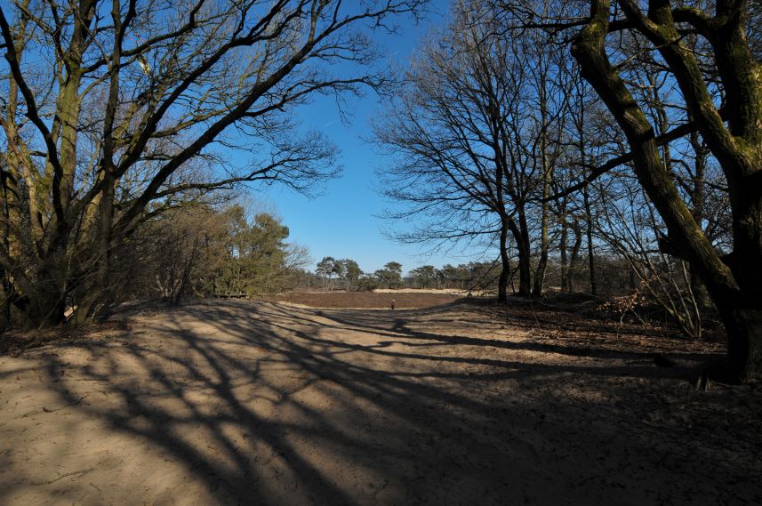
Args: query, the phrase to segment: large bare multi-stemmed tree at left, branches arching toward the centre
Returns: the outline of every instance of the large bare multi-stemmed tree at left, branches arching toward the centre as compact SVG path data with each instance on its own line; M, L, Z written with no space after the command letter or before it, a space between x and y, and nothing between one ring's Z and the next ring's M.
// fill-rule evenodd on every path
M77 287L86 310L115 245L188 195L245 181L309 190L335 172L293 132L316 93L381 86L368 30L421 0L20 1L0 8L7 99L0 265L29 325ZM350 74L333 63L353 62ZM238 150L244 166L222 155ZM214 169L197 171L204 157ZM316 181L317 180L317 181Z

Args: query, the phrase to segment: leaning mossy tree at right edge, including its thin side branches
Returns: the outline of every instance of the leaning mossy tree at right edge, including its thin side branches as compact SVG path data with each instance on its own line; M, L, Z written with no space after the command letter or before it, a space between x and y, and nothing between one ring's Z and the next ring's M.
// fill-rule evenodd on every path
M728 372L762 378L762 63L759 4L745 0L593 0L570 5L504 3L521 18L511 28L564 32L582 76L614 116L630 152L593 170L630 162L669 233L662 249L689 261L726 327ZM550 6L550 8L548 8ZM566 12L561 12L565 10ZM520 26L519 26L520 25ZM629 37L638 44L622 44ZM638 53L640 54L638 54ZM682 124L657 134L628 80L631 60L648 52L670 73L685 111ZM725 175L732 245L714 247L686 204L662 148L701 135Z

